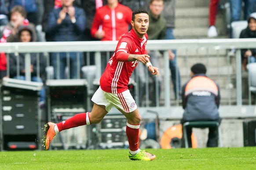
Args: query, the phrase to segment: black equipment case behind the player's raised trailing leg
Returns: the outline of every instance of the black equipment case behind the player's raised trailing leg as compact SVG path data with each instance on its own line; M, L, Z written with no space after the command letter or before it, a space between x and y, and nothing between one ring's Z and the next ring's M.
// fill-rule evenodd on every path
M61 122L88 110L88 82L86 79L48 79L48 122ZM51 142L51 149L84 149L86 126L62 131Z

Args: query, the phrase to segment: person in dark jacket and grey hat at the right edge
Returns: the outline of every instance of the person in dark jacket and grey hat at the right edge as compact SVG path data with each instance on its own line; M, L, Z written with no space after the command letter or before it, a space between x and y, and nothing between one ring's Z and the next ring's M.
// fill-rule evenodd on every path
M249 15L247 28L243 29L240 34L240 39L256 38L256 12ZM248 62L256 62L256 48L255 49L241 49L241 56L243 61L243 70L246 70ZM249 59L249 61L248 61Z

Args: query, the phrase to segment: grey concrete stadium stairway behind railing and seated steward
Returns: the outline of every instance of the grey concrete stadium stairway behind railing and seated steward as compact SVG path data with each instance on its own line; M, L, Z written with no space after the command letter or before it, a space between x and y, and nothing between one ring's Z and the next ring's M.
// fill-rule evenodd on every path
M220 0L216 16L218 36L214 37L215 39L229 38L226 10L224 8L226 2L227 0ZM176 28L174 29L176 39L209 39L207 37L209 4L210 0L176 0ZM189 62L186 62L188 54ZM189 53L186 50L177 50L177 63L181 74L181 84L183 85L189 79L188 71L190 71L190 67L196 62L202 62L207 66L208 76L219 83L222 96L221 104L235 103L235 58L232 57L231 60L228 60L227 55L227 50L216 51L209 49L207 51L195 49L189 50ZM220 68L219 71L218 67ZM227 78L228 72L230 73L230 80ZM243 78L246 81L246 75ZM246 93L246 89L243 89L243 91ZM228 100L230 96L231 101ZM175 105L174 95L171 96L171 99L171 103Z

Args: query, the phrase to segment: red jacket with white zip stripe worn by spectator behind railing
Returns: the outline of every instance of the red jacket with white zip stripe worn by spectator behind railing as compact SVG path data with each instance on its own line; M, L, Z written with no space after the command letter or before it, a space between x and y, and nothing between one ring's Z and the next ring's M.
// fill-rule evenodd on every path
M132 10L122 4L118 4L116 8L111 9L107 5L99 8L91 25L91 35L95 37L95 33L102 25L105 36L102 41L116 41L128 32L128 26L132 21ZM100 28L101 29L101 28Z

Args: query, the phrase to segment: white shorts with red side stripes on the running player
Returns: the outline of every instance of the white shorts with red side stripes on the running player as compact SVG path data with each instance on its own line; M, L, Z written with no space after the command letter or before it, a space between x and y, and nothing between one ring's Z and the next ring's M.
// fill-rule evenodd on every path
M104 92L101 87L94 93L91 101L98 105L106 106L106 111L110 111L113 106L117 109L123 110L125 113L130 113L137 109L135 100L133 99L129 90L121 93L108 93Z

